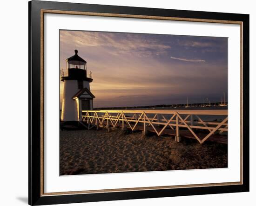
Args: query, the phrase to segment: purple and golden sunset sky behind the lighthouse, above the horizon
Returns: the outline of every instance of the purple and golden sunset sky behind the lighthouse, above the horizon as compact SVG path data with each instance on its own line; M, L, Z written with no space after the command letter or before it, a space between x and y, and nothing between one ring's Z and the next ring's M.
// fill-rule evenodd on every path
M94 107L227 99L227 38L61 31L61 68L75 48L93 72Z

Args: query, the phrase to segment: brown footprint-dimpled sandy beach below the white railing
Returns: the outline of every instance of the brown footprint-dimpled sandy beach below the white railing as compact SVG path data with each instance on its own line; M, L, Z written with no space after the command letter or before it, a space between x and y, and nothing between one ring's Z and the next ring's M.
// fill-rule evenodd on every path
M228 166L227 145L114 130L61 131L60 174L103 174Z

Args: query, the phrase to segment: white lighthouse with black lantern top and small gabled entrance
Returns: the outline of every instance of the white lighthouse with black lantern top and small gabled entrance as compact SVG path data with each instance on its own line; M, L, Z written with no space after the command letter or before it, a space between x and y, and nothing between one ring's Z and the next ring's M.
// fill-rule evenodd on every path
M61 107L61 122L78 123L82 120L82 110L93 109L94 95L90 91L93 81L92 72L87 71L87 62L78 56L66 59L66 68L61 70L61 81L64 82Z

